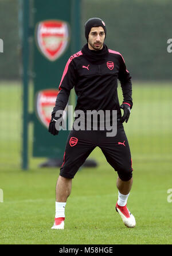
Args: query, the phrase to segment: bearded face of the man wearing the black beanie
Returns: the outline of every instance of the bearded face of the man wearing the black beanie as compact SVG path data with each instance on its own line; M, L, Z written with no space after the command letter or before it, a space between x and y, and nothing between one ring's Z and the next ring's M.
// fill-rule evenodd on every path
M104 29L102 27L93 27L88 35L89 50L101 50L105 39Z

